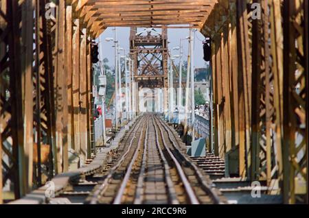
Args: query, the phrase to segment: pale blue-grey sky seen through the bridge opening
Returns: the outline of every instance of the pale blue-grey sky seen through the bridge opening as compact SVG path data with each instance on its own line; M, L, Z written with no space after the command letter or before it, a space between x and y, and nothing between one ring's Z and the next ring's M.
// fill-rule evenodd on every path
M137 29L137 31L141 31L143 29ZM113 48L113 42L106 42L106 38L114 38L114 30L113 27L109 27L105 30L100 36L100 56L103 53L103 59L108 58L109 65L114 66L114 56L115 49ZM173 47L178 47L180 44L181 38L185 39L189 36L189 29L168 29L168 41L170 42L168 45L169 49ZM130 28L129 27L117 27L117 39L119 40L119 46L124 48L126 53L129 52L130 49ZM194 37L194 67L201 68L205 67L205 61L203 60L203 40L204 36L196 31ZM122 51L123 52L123 51ZM187 40L183 40L183 60L187 60L188 53L188 42ZM172 52L173 55L179 55L179 51L174 50ZM123 56L123 53L122 53ZM177 64L179 64L179 59L175 60Z

